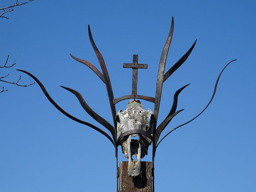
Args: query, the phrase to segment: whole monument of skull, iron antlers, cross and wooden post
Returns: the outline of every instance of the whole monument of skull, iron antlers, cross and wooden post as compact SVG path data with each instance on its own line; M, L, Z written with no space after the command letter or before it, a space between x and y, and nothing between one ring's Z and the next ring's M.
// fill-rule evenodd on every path
M107 67L105 65L105 62L103 60L103 56L99 52L98 48L96 47L93 37L91 35L91 30L88 25L88 32L89 32L89 39L91 41L91 45L96 53L96 56L99 60L99 64L101 66L100 72L93 64L87 62L86 60L82 60L79 58L76 58L72 56L75 60L78 62L81 62L88 66L95 74L105 83L108 97L109 97L109 104L112 112L112 118L113 118L113 124L110 124L105 120L103 117L99 116L95 111L93 111L89 105L84 101L82 95L71 88L63 87L64 89L70 91L73 93L80 102L83 109L97 122L99 122L101 125L103 125L107 130L109 130L110 134L107 134L100 128L94 126L93 124L90 124L88 122L85 122L83 120L80 120L68 112L64 111L48 94L43 84L32 74L29 72L26 72L24 70L19 70L21 72L24 72L31 76L41 87L43 90L43 93L47 97L47 99L56 107L60 112L62 112L64 115L68 116L72 120L79 122L81 124L87 125L94 130L97 130L104 136L106 136L110 142L113 144L115 149L115 156L116 156L116 190L117 192L152 192L154 191L154 158L155 158L155 152L158 147L158 145L161 143L161 141L169 135L171 132L176 130L177 128L188 124L195 118L197 118L204 110L209 106L211 103L216 89L217 89L217 83L219 81L219 78L223 72L223 70L234 60L229 62L223 70L220 72L219 77L217 78L217 81L215 83L215 87L213 90L213 95L209 101L209 103L206 105L206 107L194 118L189 120L188 122L181 124L171 130L169 133L167 133L163 138L159 141L159 138L161 136L161 133L166 128L166 126L169 124L169 122L181 111L184 109L178 110L177 109L177 103L178 103L178 95L180 92L188 85L185 85L178 89L176 93L174 94L173 98L173 105L170 109L170 112L167 114L166 118L163 120L163 122L159 123L157 126L157 118L159 113L159 106L161 101L161 93L162 93L162 87L163 83L173 74L188 58L190 53L192 52L196 41L190 47L188 52L186 52L178 62L176 62L167 72L165 72L165 63L166 58L168 54L168 50L171 44L171 39L173 36L173 26L174 21L172 18L171 22L171 28L169 31L169 35L167 37L167 41L163 47L163 51L160 58L159 63L159 70L157 74L157 83L156 83L156 93L155 97L149 97L144 95L138 95L137 94L137 83L138 83L138 69L147 69L147 64L139 64L138 63L138 55L133 55L133 62L132 63L124 63L124 68L132 68L132 94L131 95L125 95L119 98L114 98L114 94L112 91L111 81L109 78L109 74L107 71ZM120 110L116 114L116 107L115 104L123 101L125 99L130 99L128 102L128 105L124 111ZM145 110L143 106L141 105L139 99L143 99L149 102L152 102L155 104L153 112L148 109ZM152 144L152 161L151 162L145 162L141 161L141 159L147 155L148 153L148 147ZM123 161L120 163L120 166L118 167L118 146L121 146L122 152L124 153L124 156L128 158L127 161ZM136 155L136 161L132 158L132 155ZM118 182L119 178L119 182ZM119 185L118 185L119 183ZM118 188L119 186L119 188Z

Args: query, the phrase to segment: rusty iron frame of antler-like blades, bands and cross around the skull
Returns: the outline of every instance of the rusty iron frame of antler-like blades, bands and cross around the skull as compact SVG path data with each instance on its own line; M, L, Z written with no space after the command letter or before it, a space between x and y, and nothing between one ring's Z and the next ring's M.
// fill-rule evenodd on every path
M171 44L171 39L173 37L173 28L174 28L174 20L172 18L172 22L171 22L171 27L169 30L169 35L167 37L167 41L163 47L163 51L161 54L161 58L160 58L160 62L159 62L159 70L158 70L158 74L157 74L157 85L156 85L156 94L155 94L155 98L153 97L149 97L149 96L144 96L144 95L137 95L137 83L138 83L138 68L147 68L147 64L138 64L138 55L134 55L133 56L133 63L129 64L129 63L124 63L123 67L124 68L132 68L133 70L133 74L132 74L132 95L125 95L122 97L118 97L116 99L114 99L114 94L112 91L112 86L111 86L111 81L109 78L109 74L107 71L107 67L105 65L105 62L103 60L103 56L101 55L101 53L99 52L98 48L96 47L94 41L93 41L93 37L91 35L91 30L90 27L88 25L88 33L89 33L89 39L91 42L91 45L93 47L93 50L96 53L96 56L99 60L99 64L101 66L101 71L100 72L95 66L93 66L93 64L76 58L73 55L72 58L74 58L76 61L81 62L83 64L85 64L86 66L88 66L91 70L93 70L93 72L95 72L95 74L97 76L99 76L99 78L103 81L103 83L105 83L106 85L106 89L107 89L107 93L108 93L108 97L109 97L109 104L111 107L111 112L112 112L112 118L113 118L113 124L114 126L112 126L109 122L107 122L107 120L105 120L104 118L102 118L101 116L99 116L96 112L94 112L89 105L87 105L87 103L84 101L82 95L74 90L74 89L70 89L68 87L63 87L64 89L70 91L71 93L73 93L79 100L81 106L83 107L83 109L92 117L94 118L97 122L99 122L101 125L103 125L105 128L107 128L109 130L109 132L111 132L111 136L109 134L107 134L106 132L104 132L103 130L101 130L100 128L85 122L83 120L80 120L74 116L72 116L71 114L69 114L68 112L64 111L59 105L57 105L55 103L55 101L50 97L50 95L48 94L48 92L46 91L45 87L43 86L43 84L32 74L30 74L27 71L24 70L18 70L21 72L24 72L25 74L31 76L31 78L33 78L41 87L43 93L45 94L45 96L47 97L47 99L50 101L50 103L52 103L52 105L54 105L54 107L56 107L60 112L62 112L64 115L68 116L69 118L71 118L72 120L79 122L81 124L87 125L91 128L93 128L94 130L97 130L98 132L100 132L101 134L103 134L104 136L106 136L111 143L114 145L115 147L115 157L116 157L116 171L117 171L117 177L116 177L116 190L118 192L118 145L120 144L120 142L122 140L124 140L125 138L127 138L128 136L132 135L132 134L139 134L139 135L143 135L146 136L147 138L149 138L152 143L153 143L153 147L152 147L152 185L153 185L153 191L154 191L154 162L155 162L155 152L156 149L158 147L158 145L161 143L161 141L168 136L171 132L173 132L174 130L176 130L177 128L184 126L185 124L188 124L189 122L191 122L192 120L194 120L195 118L197 118L200 114L202 114L202 112L205 111L205 109L209 106L209 104L211 103L216 89L217 89L217 83L219 81L219 78L223 72L223 70L225 70L225 68L233 61L229 62L221 71L221 73L219 74L217 81L215 83L215 87L214 87L214 91L213 91L213 95L208 103L208 105L206 105L206 107L203 109L203 111L201 111L197 116L195 116L194 118L192 118L191 120L189 120L188 122L181 124L179 126L177 126L176 128L174 128L173 130L171 130L170 132L168 132L159 142L159 138L161 136L161 133L163 132L163 130L166 128L166 126L169 124L169 122L172 120L172 118L178 114L179 112L183 111L184 109L181 109L179 111L176 111L177 109L177 103L178 103L178 95L179 93L188 85L185 85L184 87L178 89L178 91L176 91L175 95L174 95L174 99L173 99L173 105L171 107L171 110L169 112L169 114L167 114L166 118L163 120L163 122L161 122L161 124L159 124L159 126L156 128L156 124L157 124L157 118L158 118L158 113L159 113L159 107L160 107L160 101L161 101L161 93L162 93L162 89L163 89L163 82L166 81L169 76L171 76L171 74L173 74L188 58L188 56L190 55L190 53L192 52L196 41L194 42L194 44L192 45L192 47L190 47L190 49L188 50L188 52L186 52L186 54L184 54L182 56L182 58L180 58L180 60L178 60L178 62L176 62L176 64L174 64L166 73L165 73L165 64L166 64L166 59L167 59L167 54L169 51L169 47ZM149 134L148 132L145 132L144 130L128 130L124 133L121 133L120 136L117 138L117 124L116 124L116 108L115 108L115 104L118 103L119 101L122 101L124 99L144 99L146 101L155 103L155 107L154 107L154 115L152 114L152 116L154 116L153 118L153 136L151 136L151 134ZM149 109L150 110L150 109ZM158 143L157 143L158 142Z

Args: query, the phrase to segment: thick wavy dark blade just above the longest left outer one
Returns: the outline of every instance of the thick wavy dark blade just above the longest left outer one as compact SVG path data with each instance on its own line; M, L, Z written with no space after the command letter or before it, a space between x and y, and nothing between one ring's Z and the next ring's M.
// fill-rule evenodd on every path
M107 130L109 130L112 134L113 139L115 140L115 132L114 132L114 127L107 122L107 120L105 120L104 118L102 118L101 116L99 116L95 111L93 111L91 109L91 107L89 107L89 105L87 105L87 103L85 102L85 100L83 99L83 96L76 90L74 89L70 89L68 87L64 87L64 86L60 86L68 91L70 91L71 93L73 93L77 98L78 101L80 102L81 106L83 107L83 109L92 117L94 118L97 122L99 122L100 124L102 124L105 128L107 128Z

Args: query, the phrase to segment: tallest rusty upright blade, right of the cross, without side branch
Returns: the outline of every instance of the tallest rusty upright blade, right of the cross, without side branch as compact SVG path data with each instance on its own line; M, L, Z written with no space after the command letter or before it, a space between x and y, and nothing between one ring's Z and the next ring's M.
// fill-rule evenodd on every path
M171 28L170 28L165 46L163 47L163 51L162 51L160 63L159 63L158 74L157 74L157 87L155 91L155 109L154 109L154 115L156 120L158 117L158 111L159 111L162 88L163 88L163 75L165 72L166 58L167 58L167 54L168 54L169 47L173 37L173 26L174 26L174 20L172 18Z

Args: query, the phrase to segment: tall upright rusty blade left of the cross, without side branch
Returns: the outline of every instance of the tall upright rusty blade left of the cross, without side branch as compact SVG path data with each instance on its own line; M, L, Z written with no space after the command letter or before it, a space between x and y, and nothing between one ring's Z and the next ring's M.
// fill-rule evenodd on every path
M93 47L93 50L95 51L97 58L99 60L99 64L101 66L101 70L104 76L104 80L105 80L105 84L106 84L106 88L107 88L107 93L109 96L109 104L110 104L110 108L111 108L111 112L112 112L112 118L113 118L113 122L116 128L116 122L114 120L115 116L116 116L116 107L113 103L114 100L114 95L113 95L113 91L112 91L112 86L111 86L111 81L109 79L109 73L106 67L106 64L103 60L103 56L101 55L101 53L99 52L98 48L96 47L94 41L93 41L93 37L91 35L91 29L90 26L88 25L88 33L89 33L89 39L91 41L91 45ZM116 130L115 130L115 134L116 134Z

